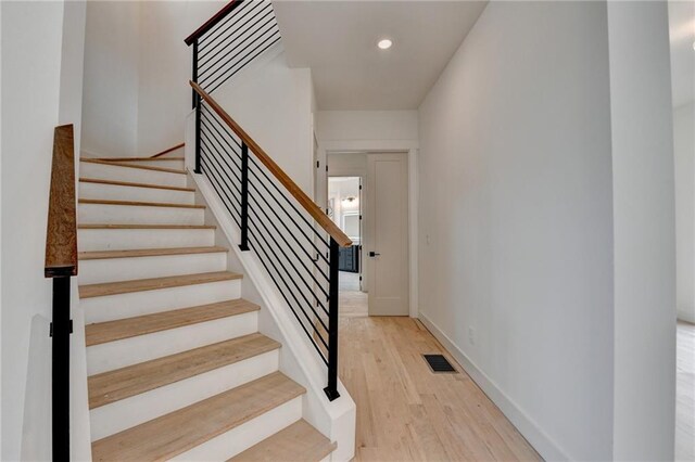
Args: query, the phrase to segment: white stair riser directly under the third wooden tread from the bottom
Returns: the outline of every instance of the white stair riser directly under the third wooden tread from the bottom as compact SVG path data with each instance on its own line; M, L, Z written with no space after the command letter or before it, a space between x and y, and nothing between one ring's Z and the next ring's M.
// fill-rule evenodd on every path
M194 375L90 411L92 441L113 435L278 370L279 351Z

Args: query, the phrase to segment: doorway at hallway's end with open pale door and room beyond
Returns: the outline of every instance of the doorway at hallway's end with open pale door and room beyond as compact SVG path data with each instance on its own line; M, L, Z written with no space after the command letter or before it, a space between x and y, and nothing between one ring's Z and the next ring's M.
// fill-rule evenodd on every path
M341 316L408 316L408 154L331 153L327 161L327 210L353 241L341 251Z

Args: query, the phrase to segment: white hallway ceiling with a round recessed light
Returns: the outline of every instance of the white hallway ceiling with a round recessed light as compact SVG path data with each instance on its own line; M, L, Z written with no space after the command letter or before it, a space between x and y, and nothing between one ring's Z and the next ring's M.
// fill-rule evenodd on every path
M486 1L275 1L291 67L321 110L415 110ZM390 50L377 48L381 38Z

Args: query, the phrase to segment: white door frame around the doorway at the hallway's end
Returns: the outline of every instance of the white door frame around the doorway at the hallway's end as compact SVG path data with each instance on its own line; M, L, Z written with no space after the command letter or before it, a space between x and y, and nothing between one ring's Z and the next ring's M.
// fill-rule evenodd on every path
M325 175L325 184L328 191L328 170L325 167L328 154L333 153L364 153L364 154L392 154L407 153L408 164L408 284L409 284L409 317L418 318L418 180L417 180L417 140L331 140L318 143L318 156L320 168L315 171L317 175ZM354 171L354 170L353 170ZM366 180L366 172L363 175L346 176L363 177L363 185ZM343 176L343 171L333 171L332 176ZM366 191L369 194L369 191ZM326 207L326 204L323 204Z

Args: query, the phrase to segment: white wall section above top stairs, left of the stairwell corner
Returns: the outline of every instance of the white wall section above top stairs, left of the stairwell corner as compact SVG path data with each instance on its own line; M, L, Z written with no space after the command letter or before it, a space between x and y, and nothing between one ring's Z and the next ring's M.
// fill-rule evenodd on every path
M96 156L138 152L140 4L87 5L81 144Z

